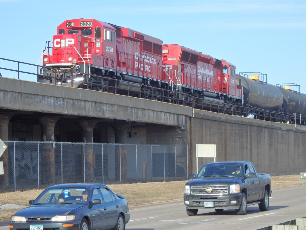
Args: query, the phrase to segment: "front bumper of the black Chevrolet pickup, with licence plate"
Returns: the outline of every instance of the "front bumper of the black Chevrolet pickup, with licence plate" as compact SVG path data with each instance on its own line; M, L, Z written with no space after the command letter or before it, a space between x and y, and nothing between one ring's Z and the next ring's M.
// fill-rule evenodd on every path
M203 196L184 194L186 209L239 209L241 193L227 196Z

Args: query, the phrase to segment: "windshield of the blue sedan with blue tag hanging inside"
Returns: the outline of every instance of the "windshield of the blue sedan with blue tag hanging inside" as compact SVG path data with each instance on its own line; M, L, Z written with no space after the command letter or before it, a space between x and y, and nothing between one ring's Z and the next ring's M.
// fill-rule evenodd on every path
M85 204L88 201L87 188L48 188L44 190L33 202L39 204Z

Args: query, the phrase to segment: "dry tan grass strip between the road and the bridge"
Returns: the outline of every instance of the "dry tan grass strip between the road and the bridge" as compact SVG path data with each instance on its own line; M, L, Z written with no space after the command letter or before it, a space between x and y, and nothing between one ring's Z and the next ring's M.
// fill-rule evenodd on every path
M165 201L183 200L186 181L151 182L137 184L110 184L116 194L122 194L129 202L129 206L159 203ZM305 185L300 181L300 175L285 175L271 177L272 190L279 187ZM0 205L16 204L28 205L28 201L35 199L43 190L28 190L0 193ZM0 206L0 221L10 220L19 209L3 210Z

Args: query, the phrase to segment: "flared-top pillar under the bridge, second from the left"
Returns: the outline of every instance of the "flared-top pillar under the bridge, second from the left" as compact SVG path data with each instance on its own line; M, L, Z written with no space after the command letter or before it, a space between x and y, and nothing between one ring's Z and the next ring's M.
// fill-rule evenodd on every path
M54 127L59 117L42 117L39 119L41 125L42 141L54 142ZM43 184L55 183L54 148L52 144L45 145L41 150L41 182Z

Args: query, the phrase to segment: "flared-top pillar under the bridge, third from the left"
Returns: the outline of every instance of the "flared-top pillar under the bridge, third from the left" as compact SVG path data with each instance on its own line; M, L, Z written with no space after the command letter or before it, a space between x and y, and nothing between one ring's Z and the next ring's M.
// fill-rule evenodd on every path
M80 121L82 127L82 140L84 143L93 142L93 131L98 121ZM83 157L81 157L83 161ZM85 164L85 178L84 178L84 164ZM81 178L82 182L94 181L95 155L92 144L85 144L85 162L82 164Z

